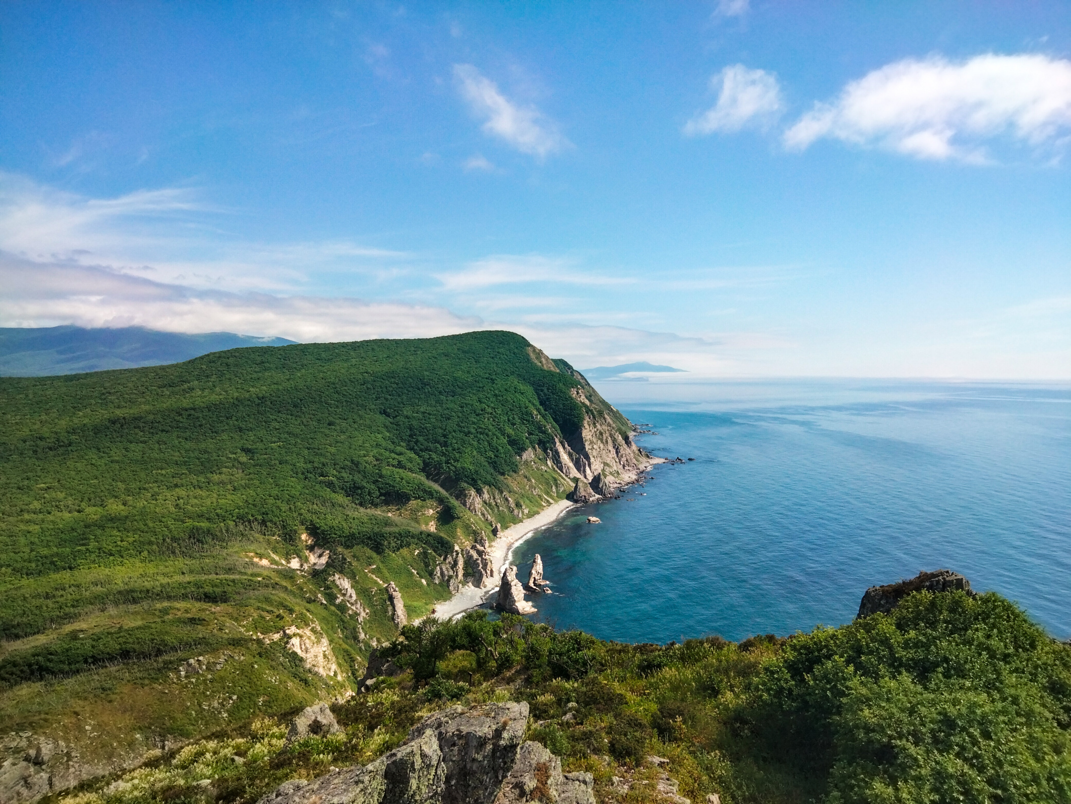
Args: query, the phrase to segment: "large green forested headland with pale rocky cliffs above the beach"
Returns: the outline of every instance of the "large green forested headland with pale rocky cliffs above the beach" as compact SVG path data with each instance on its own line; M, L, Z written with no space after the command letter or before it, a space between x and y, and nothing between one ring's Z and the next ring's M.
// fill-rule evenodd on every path
M634 477L630 432L511 332L0 378L0 721L62 788L345 697L388 584L426 614L459 547Z

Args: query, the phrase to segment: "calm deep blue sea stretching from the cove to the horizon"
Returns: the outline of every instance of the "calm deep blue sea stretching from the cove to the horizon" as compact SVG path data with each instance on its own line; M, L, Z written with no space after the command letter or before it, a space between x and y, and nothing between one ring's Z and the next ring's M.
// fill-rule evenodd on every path
M540 553L556 593L537 619L628 642L786 635L948 567L1071 636L1071 387L725 384L661 406L620 407L658 431L650 452L696 460L521 545L518 576Z

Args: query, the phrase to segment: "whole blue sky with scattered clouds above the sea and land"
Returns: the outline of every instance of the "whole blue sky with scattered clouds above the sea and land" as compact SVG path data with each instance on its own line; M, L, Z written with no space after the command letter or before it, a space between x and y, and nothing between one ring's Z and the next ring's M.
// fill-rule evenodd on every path
M1071 378L1069 56L1057 2L5 3L0 324Z

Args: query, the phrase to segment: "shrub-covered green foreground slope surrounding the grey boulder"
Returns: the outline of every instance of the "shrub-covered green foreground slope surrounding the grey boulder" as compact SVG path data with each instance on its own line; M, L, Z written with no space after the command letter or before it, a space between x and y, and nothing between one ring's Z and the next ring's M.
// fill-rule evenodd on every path
M604 802L665 802L663 773L724 804L1071 801L1071 647L993 593L919 592L739 644L619 644L473 612L406 626L382 653L405 672L332 708L344 734L286 744L285 721L261 718L67 801L252 804L371 761L428 712L507 699L528 701L528 739L591 772Z

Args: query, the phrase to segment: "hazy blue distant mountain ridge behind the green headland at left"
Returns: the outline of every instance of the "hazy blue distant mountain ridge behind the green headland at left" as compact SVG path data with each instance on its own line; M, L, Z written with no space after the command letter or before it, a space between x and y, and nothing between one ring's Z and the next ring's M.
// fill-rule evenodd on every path
M241 346L286 346L285 338L232 332L160 332L145 327L0 327L0 376L39 377L134 369L190 360Z

